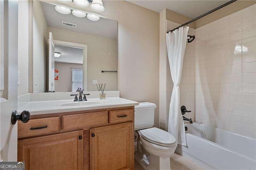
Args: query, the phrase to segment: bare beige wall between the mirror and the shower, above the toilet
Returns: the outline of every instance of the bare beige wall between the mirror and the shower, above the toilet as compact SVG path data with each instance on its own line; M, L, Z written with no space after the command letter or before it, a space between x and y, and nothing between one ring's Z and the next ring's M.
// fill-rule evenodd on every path
M126 1L104 1L102 15L118 21L118 90L159 109L159 13Z

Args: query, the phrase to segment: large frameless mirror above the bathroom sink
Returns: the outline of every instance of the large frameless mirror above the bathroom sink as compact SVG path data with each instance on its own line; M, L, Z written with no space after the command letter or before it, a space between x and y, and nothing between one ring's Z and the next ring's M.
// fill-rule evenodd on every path
M61 14L33 1L33 91L117 90L118 23Z

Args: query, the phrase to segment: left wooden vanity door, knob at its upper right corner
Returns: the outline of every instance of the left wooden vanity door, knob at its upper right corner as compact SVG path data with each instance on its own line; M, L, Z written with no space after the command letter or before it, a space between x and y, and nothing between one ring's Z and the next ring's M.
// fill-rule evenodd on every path
M26 170L82 170L82 130L18 140Z

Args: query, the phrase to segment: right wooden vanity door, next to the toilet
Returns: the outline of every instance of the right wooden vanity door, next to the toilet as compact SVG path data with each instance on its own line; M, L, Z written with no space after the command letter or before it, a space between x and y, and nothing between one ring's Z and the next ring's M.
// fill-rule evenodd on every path
M132 122L90 129L90 169L134 169Z

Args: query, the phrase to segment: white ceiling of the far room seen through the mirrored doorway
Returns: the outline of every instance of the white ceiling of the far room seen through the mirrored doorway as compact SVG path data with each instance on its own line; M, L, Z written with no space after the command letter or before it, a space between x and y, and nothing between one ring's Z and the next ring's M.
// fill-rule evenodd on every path
M83 64L83 49L55 45L55 52L60 52L60 57L54 57L55 62Z

